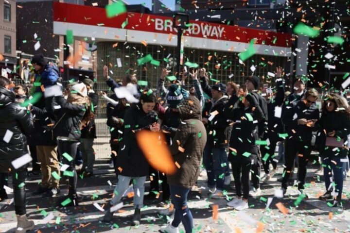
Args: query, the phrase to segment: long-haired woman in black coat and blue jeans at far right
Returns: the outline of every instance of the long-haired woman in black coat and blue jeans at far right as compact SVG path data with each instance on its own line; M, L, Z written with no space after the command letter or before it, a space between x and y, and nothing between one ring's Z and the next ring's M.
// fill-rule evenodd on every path
M326 186L326 193L320 196L319 199L332 200L334 196L333 207L341 206L340 201L343 192L342 167L349 151L347 147L347 136L349 134L350 108L346 99L338 94L327 95L323 100L316 148L322 158ZM332 185L333 178L334 187Z

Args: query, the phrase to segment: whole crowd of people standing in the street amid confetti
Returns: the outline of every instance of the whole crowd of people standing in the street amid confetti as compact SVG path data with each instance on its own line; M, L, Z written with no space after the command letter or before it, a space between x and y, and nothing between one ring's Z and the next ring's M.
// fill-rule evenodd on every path
M56 204L67 207L79 204L77 174L94 175L94 118L99 102L94 82L84 79L63 87L57 67L47 63L42 54L36 54L31 63L35 67L31 88L0 77L0 199L7 199L4 185L10 172L17 233L34 228L34 222L26 217L26 176L41 175L41 183L32 195L48 198L60 195L61 176L68 179L68 195L61 196ZM115 91L111 96L102 93L101 98L108 102L111 162L117 179L103 217L105 222L113 221L132 184L132 225L140 224L143 200L161 193L161 214L172 215L172 220L160 231L178 233L182 222L186 233L191 233L193 217L187 197L197 183L202 164L208 181L200 192L212 199L227 198L227 206L238 211L249 208L250 197L261 195L262 179L269 181L280 161L284 161L282 196L297 166L297 188L307 197L305 177L313 150L319 152L325 180L326 191L319 199L341 206L343 179L349 170L350 134L350 108L341 92L322 96L313 88L306 89L302 79L296 79L290 93L281 67L276 69L272 84L263 84L253 75L241 85L210 85L205 68L183 71L181 80L170 81L169 72L164 68L157 89L150 89L139 86L135 75L116 82L104 67L106 84ZM188 90L187 80L192 83ZM319 98L322 103L318 107ZM140 131L165 134L166 147L176 162L175 173L166 174L150 166L136 139ZM285 153L276 154L277 146ZM27 172L29 163L18 162L27 154L33 159L31 172ZM83 165L76 170L79 154ZM231 173L235 196L227 197L225 186L231 183ZM150 189L144 195L147 179Z

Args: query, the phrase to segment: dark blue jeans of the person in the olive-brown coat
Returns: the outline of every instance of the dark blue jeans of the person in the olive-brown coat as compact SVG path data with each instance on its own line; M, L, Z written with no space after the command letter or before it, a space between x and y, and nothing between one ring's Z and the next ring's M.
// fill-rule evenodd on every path
M191 188L184 188L169 184L170 195L174 203L175 215L172 222L173 227L178 227L180 222L184 225L186 233L192 233L193 217L190 208L187 206L187 195Z

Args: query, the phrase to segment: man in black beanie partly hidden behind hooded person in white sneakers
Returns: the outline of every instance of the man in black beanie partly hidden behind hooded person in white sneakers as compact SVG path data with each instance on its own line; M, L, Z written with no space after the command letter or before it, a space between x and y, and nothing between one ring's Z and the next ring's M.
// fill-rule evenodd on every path
M265 117L264 120L259 122L258 124L258 135L259 138L263 138L263 133L265 132L265 128L267 125L267 102L265 98L263 98L260 94L258 94L260 79L257 76L249 76L245 79L245 85L248 92L258 101L259 106L262 109L263 115ZM259 196L261 194L260 189L260 168L261 168L261 154L257 156L257 162L252 165L252 171L254 172L251 181L253 184L254 190L249 194L253 197Z

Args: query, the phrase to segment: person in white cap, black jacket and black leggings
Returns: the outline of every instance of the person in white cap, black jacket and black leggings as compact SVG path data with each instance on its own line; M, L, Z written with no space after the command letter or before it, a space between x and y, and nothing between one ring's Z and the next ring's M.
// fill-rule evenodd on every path
M58 105L54 105L57 103ZM56 116L53 126L57 137L58 151L62 163L69 165L63 175L69 177L68 198L65 197L57 202L58 206L78 205L76 185L77 173L75 170L75 155L81 136L82 124L93 117L87 87L84 83L75 84L70 89L67 100L63 95L46 99L46 109Z

